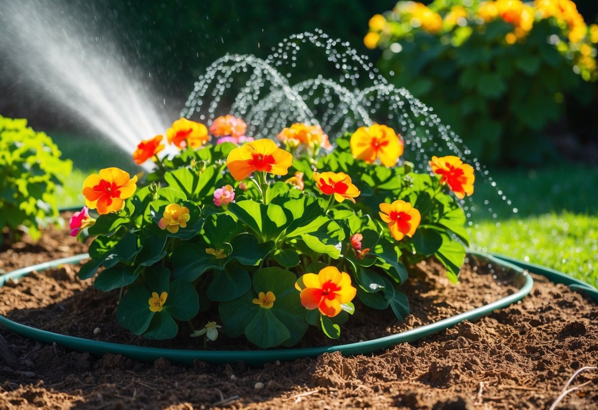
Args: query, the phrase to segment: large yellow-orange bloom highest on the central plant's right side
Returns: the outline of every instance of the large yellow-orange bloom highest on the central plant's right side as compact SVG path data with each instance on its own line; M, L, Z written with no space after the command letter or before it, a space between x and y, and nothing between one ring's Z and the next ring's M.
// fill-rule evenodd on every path
M370 164L379 159L387 167L395 166L403 154L403 143L395 130L380 124L358 128L350 145L353 157Z

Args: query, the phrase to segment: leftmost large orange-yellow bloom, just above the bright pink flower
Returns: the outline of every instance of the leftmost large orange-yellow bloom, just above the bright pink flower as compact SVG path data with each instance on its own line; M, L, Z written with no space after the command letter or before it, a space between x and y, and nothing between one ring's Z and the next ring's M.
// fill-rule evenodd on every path
M101 169L83 182L85 204L100 215L123 209L124 200L135 193L137 176L115 167Z

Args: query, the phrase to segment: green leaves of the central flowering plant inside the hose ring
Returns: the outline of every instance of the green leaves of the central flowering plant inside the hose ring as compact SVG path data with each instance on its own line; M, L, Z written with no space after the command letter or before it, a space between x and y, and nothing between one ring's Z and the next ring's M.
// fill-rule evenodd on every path
M160 160L123 209L88 228L96 238L79 276L99 271L96 289L123 295L121 325L151 339L174 337L187 320L218 320L225 335L245 336L260 348L297 344L310 325L338 338L355 312L355 296L404 319L409 305L400 287L414 264L435 257L457 280L468 243L465 215L440 179L353 158L350 135L321 158L300 151L288 173L306 173L302 190L257 171L242 187L225 167L230 144ZM361 189L356 204L325 195L314 165L353 176ZM216 206L215 190L227 184L234 201ZM419 210L413 237L395 238L380 219L380 204L397 200ZM173 206L180 215L172 216ZM329 292L336 304L327 302ZM213 340L217 328L210 329ZM199 333L208 338L207 328Z

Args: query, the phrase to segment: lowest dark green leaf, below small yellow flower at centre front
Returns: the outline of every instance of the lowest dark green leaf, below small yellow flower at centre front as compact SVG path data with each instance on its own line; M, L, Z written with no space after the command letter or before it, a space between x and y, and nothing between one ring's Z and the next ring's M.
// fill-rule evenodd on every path
M245 336L250 342L267 349L278 346L291 337L289 329L269 309L258 309L245 328Z

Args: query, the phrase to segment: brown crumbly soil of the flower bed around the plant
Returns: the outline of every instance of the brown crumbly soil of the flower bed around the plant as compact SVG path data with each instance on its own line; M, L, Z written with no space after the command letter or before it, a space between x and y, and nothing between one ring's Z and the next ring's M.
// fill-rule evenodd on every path
M65 244L67 235L60 238L53 231L43 243ZM43 260L67 256L47 250ZM13 250L3 250L0 263L15 259L10 255ZM19 254L22 265L42 261L35 252L32 259L27 255ZM0 312L91 339L200 347L199 340L187 338L185 325L173 341L130 335L114 322L117 292L96 292L90 280L76 279L75 271L67 266L8 283L0 288ZM148 364L112 354L98 358L0 331L16 356L13 368L0 359L0 408L547 409L576 369L598 365L598 306L563 285L540 276L534 280L532 293L520 304L417 342L374 354L324 354L264 368L203 362L185 368L164 359ZM404 322L377 314L373 326L373 316L358 307L343 326L340 342L443 319L514 289L496 267L481 266L465 268L459 285L450 286L437 265L428 262L404 286L412 310ZM100 329L96 335L95 328ZM308 340L326 342L321 332L310 332ZM231 348L231 343L221 336L212 347ZM248 348L234 343L234 348ZM558 408L598 408L598 372L583 372L572 385L586 382Z

